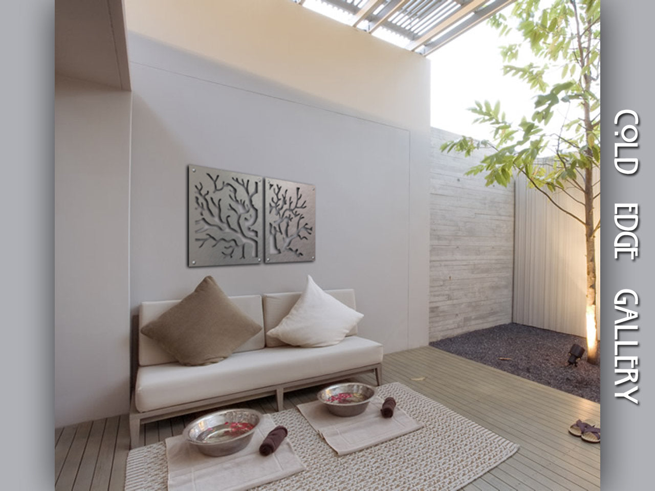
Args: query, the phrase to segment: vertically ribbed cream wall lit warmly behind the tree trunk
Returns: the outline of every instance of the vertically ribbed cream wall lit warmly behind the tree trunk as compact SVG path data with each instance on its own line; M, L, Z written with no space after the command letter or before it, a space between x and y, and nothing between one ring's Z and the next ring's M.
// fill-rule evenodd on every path
M582 209L565 194L553 196L568 207ZM515 200L514 321L586 337L584 227L540 192L528 189L523 176L516 179ZM599 237L600 232L596 236L597 299Z

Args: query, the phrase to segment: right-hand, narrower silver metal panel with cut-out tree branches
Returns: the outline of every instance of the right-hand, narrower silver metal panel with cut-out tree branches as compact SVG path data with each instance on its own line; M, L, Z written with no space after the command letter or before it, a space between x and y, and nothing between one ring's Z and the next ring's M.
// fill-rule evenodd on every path
M265 262L314 261L316 188L268 177L264 188Z

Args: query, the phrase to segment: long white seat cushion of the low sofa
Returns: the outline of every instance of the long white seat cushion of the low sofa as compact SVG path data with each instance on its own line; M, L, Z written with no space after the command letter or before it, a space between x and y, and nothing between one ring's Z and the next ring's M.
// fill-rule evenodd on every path
M324 376L381 363L383 346L348 336L324 348L280 346L234 353L202 367L178 363L140 367L136 377L136 408L143 412L241 391Z

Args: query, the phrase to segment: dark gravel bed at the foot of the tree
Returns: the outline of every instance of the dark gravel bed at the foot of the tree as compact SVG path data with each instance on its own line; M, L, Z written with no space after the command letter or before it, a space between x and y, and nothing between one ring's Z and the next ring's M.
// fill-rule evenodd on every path
M573 344L587 346L580 336L510 323L433 341L430 346L599 403L600 364L587 363L585 353L577 367L569 365Z

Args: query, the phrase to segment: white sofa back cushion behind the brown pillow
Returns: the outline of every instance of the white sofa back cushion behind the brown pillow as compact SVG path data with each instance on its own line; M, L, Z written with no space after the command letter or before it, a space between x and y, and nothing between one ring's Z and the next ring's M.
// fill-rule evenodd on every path
M241 312L253 319L259 326L264 325L264 316L261 308L260 295L240 295L229 297L233 304ZM139 329L153 321L166 310L179 304L180 300L159 300L156 302L142 302L139 308ZM250 350L261 350L265 346L264 330L255 334L234 350L234 353ZM173 355L162 350L161 346L154 339L149 338L139 331L139 365L159 365L160 363L171 363L177 361Z

